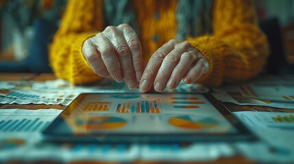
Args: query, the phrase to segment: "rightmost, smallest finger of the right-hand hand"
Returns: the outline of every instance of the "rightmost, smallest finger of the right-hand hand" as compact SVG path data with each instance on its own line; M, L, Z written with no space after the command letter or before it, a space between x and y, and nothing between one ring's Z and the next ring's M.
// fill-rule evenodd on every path
M208 72L209 64L208 61L204 58L199 59L195 66L188 71L188 73L184 77L184 82L191 84L195 83L202 74L206 74Z

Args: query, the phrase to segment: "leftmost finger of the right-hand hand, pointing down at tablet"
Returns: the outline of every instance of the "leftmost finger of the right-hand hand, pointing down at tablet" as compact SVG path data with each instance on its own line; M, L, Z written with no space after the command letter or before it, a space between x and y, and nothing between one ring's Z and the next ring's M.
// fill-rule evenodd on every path
M140 80L140 92L147 92L150 89L164 57L173 51L177 43L177 40L170 40L151 56Z

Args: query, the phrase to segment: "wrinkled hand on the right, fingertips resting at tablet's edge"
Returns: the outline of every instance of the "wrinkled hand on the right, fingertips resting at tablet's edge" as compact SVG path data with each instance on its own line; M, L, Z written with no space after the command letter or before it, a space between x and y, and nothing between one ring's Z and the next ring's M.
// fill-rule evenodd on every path
M147 92L152 84L158 92L165 87L174 89L182 79L188 84L195 83L208 68L206 57L189 42L170 40L149 59L140 80L140 92Z

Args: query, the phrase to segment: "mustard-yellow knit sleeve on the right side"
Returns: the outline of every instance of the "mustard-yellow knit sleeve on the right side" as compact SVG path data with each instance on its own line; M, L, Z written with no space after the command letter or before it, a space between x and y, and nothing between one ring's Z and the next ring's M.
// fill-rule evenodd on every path
M252 0L215 0L212 28L210 36L188 39L210 62L197 83L217 87L250 79L262 70L269 51Z

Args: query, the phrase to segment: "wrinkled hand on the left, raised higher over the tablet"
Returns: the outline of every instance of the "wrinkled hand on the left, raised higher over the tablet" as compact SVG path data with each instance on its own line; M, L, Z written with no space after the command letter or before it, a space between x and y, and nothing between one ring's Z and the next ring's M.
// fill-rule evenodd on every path
M117 82L124 79L130 89L137 87L144 61L140 40L130 25L106 27L84 42L82 52L99 76L111 76Z

